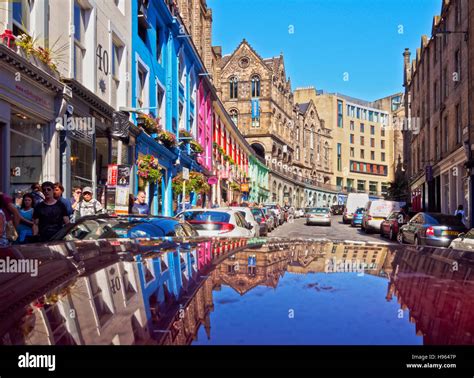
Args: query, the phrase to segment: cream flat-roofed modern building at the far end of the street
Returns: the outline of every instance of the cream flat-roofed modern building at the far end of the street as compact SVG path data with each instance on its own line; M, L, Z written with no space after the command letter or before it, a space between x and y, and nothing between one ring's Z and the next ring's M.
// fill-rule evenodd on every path
M390 109L385 103L368 102L315 88L295 91L297 102L312 100L332 135L330 184L339 192L383 195L394 177L394 138L388 127ZM340 198L342 202L343 199Z

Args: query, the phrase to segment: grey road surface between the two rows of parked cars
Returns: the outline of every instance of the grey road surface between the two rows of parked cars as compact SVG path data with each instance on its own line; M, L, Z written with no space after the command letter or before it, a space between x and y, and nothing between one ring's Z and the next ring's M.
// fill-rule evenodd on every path
M342 215L332 217L331 227L327 226L307 226L304 218L295 219L292 223L287 222L272 231L269 236L278 237L310 237L328 238L331 240L354 240L371 241L387 244L397 244L388 238L382 238L380 234L365 234L359 228L351 227L342 223Z

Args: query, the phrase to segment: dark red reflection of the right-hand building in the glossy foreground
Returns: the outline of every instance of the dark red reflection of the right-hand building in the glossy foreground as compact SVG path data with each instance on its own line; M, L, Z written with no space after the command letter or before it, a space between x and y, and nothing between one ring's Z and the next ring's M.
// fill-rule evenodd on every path
M395 295L425 345L474 343L474 273L469 253L406 248L396 253L387 300Z

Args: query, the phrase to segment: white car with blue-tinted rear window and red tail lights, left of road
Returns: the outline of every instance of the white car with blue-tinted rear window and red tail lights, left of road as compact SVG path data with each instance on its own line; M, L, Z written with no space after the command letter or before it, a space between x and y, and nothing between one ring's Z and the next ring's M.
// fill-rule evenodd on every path
M251 237L253 225L235 208L189 209L176 215L190 223L199 236Z

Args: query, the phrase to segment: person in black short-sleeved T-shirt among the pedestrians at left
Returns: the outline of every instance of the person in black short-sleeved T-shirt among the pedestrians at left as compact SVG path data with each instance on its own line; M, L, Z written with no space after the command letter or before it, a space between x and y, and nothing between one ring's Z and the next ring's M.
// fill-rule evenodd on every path
M54 198L52 182L44 182L41 190L44 201L37 204L33 211L33 236L39 236L39 241L45 242L69 223L69 216L64 203Z

